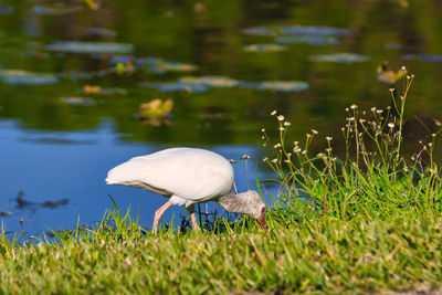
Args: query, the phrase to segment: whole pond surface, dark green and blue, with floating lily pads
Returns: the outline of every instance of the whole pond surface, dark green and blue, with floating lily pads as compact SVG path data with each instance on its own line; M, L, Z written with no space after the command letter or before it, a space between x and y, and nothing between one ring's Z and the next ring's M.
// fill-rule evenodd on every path
M408 118L441 118L441 17L438 1L407 0L1 1L1 220L10 231L21 218L30 233L69 229L78 215L101 220L110 194L149 228L166 199L104 179L167 147L248 154L255 187L255 170L273 177L261 160L273 109L292 123L290 140L315 128L314 149L327 135L339 149L346 107L390 104L385 61L415 74ZM155 98L170 98L170 114L141 120ZM244 162L234 169L245 190ZM276 193L266 185L267 200Z

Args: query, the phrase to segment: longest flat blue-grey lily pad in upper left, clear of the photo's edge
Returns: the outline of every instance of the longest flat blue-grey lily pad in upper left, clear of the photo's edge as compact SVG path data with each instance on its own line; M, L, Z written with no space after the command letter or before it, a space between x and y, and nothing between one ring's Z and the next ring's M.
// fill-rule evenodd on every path
M82 41L55 41L46 46L49 51L69 53L128 53L134 51L134 45L114 42L82 42Z

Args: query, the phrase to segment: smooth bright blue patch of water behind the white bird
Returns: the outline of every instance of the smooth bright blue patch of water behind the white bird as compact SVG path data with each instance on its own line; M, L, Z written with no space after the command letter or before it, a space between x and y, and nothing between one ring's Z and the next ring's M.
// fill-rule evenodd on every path
M140 223L150 228L154 212L166 201L165 198L141 189L123 186L106 186L108 169L131 157L150 154L167 146L119 140L110 123L88 131L30 131L20 129L14 120L0 122L0 146L2 190L0 210L12 212L1 220L8 231L19 231L23 218L24 230L34 234L48 229L72 229L80 217L81 223L99 221L106 209L113 209L109 194L122 211L131 208L131 215L139 212ZM204 147L238 159L242 155L260 157L260 150L250 146ZM255 164L250 162L250 185L255 188ZM235 182L240 191L246 190L244 162L233 164ZM271 175L259 169L259 178ZM274 191L274 188L267 188ZM64 198L69 204L50 208L18 208L17 196L23 191L23 199L30 202L57 201ZM210 208L212 208L210 206ZM185 215L182 208L175 207L164 215L170 222Z

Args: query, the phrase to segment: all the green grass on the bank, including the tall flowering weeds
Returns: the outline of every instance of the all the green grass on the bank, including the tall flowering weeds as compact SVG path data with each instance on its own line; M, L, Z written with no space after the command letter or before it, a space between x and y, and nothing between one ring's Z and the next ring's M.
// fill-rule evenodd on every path
M218 219L201 232L169 226L155 235L116 206L96 228L78 222L73 231L54 232L51 241L29 243L3 229L0 294L439 288L442 186L432 157L438 133L412 162L406 160L401 126L411 82L406 77L403 98L392 95L396 113L375 109L371 118L362 118L356 106L348 110L352 119L343 129L343 157L334 154L332 139L325 152L311 156L316 130L303 148L299 143L291 146L285 139L290 125L278 117L277 144L264 136L273 154L266 161L283 188L269 212L269 231L259 231L249 219ZM430 160L423 162L422 155Z

